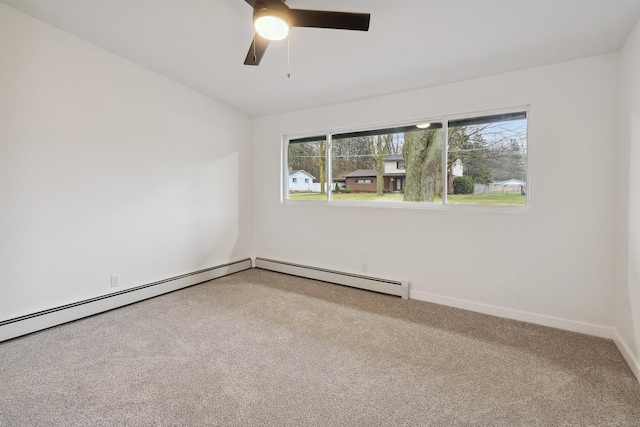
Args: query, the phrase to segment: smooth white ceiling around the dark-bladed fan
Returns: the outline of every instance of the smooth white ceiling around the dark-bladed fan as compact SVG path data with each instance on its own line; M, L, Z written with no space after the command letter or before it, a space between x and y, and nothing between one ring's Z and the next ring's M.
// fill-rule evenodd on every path
M289 0L371 13L369 32L294 28L260 66L243 0L0 0L250 116L617 52L640 0Z

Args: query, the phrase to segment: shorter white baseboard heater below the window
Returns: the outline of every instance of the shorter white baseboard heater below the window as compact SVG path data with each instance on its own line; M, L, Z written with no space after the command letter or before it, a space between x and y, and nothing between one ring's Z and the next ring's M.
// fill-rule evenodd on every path
M300 276L307 279L350 286L352 288L396 295L403 299L409 298L409 282L361 276L359 274L344 273L264 258L256 258L255 266L264 270L277 271L279 273L290 274L292 276Z

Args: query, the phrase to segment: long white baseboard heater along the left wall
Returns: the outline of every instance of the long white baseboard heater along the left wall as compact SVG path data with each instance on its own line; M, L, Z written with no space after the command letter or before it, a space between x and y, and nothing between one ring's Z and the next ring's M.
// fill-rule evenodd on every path
M145 299L153 298L178 289L217 279L228 274L248 270L251 259L243 259L222 264L204 270L194 271L165 280L160 280L135 288L123 289L107 295L66 304L60 307L39 311L25 316L0 322L0 341L51 328L63 323L92 316L114 308L123 307Z

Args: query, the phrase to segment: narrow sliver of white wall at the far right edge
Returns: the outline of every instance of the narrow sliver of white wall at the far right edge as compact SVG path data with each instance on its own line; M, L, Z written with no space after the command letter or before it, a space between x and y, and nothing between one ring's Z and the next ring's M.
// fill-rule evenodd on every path
M640 379L640 22L621 53L615 329L618 346Z

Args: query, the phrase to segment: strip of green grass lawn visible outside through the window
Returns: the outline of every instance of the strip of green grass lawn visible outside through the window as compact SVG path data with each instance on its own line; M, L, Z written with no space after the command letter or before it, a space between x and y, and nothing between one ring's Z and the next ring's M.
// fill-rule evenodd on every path
M376 193L333 193L332 199L335 201L349 202L402 202L404 194L387 193L381 197ZM292 193L289 195L291 200L326 200L324 194L319 193ZM435 200L440 203L438 197ZM520 205L524 206L525 196L520 193L487 193L487 194L455 194L447 196L447 202L452 204L474 204L474 205Z

